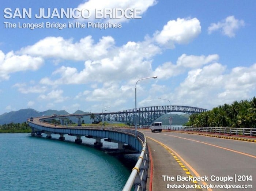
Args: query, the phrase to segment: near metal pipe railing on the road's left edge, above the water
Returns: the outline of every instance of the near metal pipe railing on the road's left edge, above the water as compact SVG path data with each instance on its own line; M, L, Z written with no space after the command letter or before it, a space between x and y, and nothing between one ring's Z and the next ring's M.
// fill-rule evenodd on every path
M138 138L143 142L142 152L140 153L135 167L132 169L131 175L126 182L123 191L129 191L132 188L134 188L135 191L146 191L149 162L147 139L141 132L138 132Z

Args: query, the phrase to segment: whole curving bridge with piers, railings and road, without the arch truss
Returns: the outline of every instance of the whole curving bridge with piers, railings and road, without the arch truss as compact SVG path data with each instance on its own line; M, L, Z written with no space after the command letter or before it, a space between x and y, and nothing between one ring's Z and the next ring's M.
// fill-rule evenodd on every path
M124 149L125 143L139 151L140 157L132 169L124 191L132 188L146 190L146 184L149 190L169 190L168 187L174 184L184 183L188 186L209 186L199 190L224 190L225 187L229 187L229 190L234 190L233 187L241 187L240 190L256 188L256 129L165 127L166 130L162 133L140 129L136 138L135 130L131 128L54 126L44 123L45 118L28 121L32 135L41 136L41 133L46 133L50 138L50 134L55 133L60 134L60 140L64 140L63 135L69 134L76 136L77 143L82 142L81 137L85 136L95 138L95 146L101 146L99 141L105 138L106 141L119 143L118 149ZM249 138L245 138L245 135ZM182 182L177 178L187 176L199 179L204 177L206 180L201 178L200 181ZM150 178L147 180L146 177ZM215 189L216 186L222 187Z

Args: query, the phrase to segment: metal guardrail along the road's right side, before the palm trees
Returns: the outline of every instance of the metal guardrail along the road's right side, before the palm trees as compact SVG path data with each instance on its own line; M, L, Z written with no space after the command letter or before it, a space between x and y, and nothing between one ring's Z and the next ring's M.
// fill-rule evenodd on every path
M256 137L256 129L253 128L163 126L163 129L173 131L197 131L206 133L219 133L227 135L243 135Z

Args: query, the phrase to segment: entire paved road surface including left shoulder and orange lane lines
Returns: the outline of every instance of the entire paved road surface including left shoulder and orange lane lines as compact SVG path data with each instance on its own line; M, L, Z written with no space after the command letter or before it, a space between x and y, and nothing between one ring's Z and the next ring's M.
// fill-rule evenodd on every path
M234 182L205 181L207 185L247 185L252 186L246 190L255 190L256 182L256 137L241 137L197 132L151 133L149 130L140 130L147 136L147 142L153 161L152 190L170 190L168 184L191 185L192 182L164 181L164 175L169 177L188 176L230 176L239 175L252 177L252 180ZM191 134L190 134L191 133ZM201 134L201 135L199 135ZM207 135L207 136L203 136ZM212 136L209 136L212 135ZM249 140L249 141L248 141ZM173 149L173 150L172 150ZM177 153L176 153L177 152ZM176 179L175 179L176 180ZM197 182L197 184L204 184ZM175 190L175 189L171 189ZM176 189L183 190L183 189ZM185 190L185 189L184 189ZM195 190L195 189L192 189ZM200 190L200 189L196 189ZM206 189L202 189L206 190ZM222 190L222 189L209 189ZM233 189L229 189L233 190Z

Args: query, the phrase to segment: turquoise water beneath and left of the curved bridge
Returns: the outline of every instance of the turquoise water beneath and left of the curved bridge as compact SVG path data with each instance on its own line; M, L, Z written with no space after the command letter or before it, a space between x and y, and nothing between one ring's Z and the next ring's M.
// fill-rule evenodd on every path
M130 168L116 157L74 144L75 137L57 138L0 134L0 190L122 190ZM94 142L83 137L84 141Z

